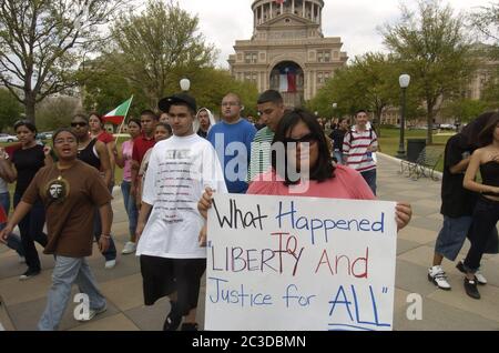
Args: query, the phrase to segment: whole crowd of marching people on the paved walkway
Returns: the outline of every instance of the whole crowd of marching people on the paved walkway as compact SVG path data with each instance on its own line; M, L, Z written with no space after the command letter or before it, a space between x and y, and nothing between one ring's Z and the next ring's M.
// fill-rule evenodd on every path
M59 327L73 283L90 297L90 314L83 320L106 310L85 256L96 241L104 266L116 265L111 234L116 168L123 169L121 191L129 218L130 238L122 254L140 258L145 305L170 299L165 331L197 330L196 309L206 270L205 218L214 192L376 199L378 140L366 111L356 113L353 127L340 119L326 135L316 115L303 109L286 110L277 91L263 92L256 104L259 120L252 123L242 117L241 98L228 93L216 122L190 94L174 94L160 101L161 115L144 110L140 119L130 119L130 139L120 148L104 131L98 113L74 115L70 128L53 134L52 148L37 142L32 123L14 125L20 145L10 153L0 151L0 201L8 211L7 183L17 181L16 210L2 224L0 239L26 261L21 280L41 271L34 242L55 258L40 330ZM448 206L442 206L445 224L428 274L439 288L450 288L441 261L444 256L454 261L469 235L470 252L458 266L473 297L479 297L476 282L486 283L478 269L493 238L488 234L496 229L499 210L499 121L497 114L480 119L487 122L480 131L476 132L476 124L469 135L464 132L449 140L448 150L456 151L448 157L446 152L449 170L445 175L454 178L452 186L445 178L442 195L448 194L444 202ZM469 150L471 137L476 137L476 151ZM276 145L284 147L284 155ZM283 163L288 165L283 168ZM475 181L479 169L482 183ZM465 201L458 209L459 196L452 188L459 183L462 195L468 189L481 193L475 209ZM411 206L398 202L395 211L398 229L403 229L410 221ZM48 234L43 233L45 221ZM13 234L18 224L20 236Z

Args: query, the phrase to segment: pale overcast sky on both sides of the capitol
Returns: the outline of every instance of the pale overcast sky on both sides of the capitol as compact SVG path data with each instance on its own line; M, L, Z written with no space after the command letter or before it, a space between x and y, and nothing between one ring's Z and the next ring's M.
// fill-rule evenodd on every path
M447 0L456 11L470 11L495 0ZM140 1L144 3L145 1ZM349 58L369 51L384 50L378 28L400 18L399 3L409 8L415 0L324 0L323 33L340 37L343 51ZM234 53L236 40L253 34L253 0L179 0L180 6L200 18L200 30L207 42L220 50L217 65L228 68L228 56Z

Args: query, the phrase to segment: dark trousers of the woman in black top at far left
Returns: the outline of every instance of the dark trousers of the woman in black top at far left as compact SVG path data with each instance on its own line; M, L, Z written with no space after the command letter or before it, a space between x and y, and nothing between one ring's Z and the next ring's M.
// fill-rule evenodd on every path
M21 202L21 195L14 193L14 206ZM19 222L21 231L22 248L24 249L26 264L29 269L39 271L41 269L40 258L38 256L34 242L45 248L48 243L47 234L43 233L43 224L45 223L45 209L40 201L37 201L30 212Z

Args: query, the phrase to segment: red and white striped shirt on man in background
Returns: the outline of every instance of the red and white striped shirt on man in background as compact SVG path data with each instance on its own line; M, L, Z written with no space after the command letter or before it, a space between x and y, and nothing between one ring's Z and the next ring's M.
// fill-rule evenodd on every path
M374 130L357 131L352 129L345 135L343 142L343 155L349 168L359 173L376 169L376 162L373 159L374 153L369 153L367 148L378 149L378 137Z

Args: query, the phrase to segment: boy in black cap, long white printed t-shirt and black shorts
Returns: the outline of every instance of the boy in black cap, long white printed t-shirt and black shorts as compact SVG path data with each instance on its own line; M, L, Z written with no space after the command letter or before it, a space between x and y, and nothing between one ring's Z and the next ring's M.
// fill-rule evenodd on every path
M194 98L185 93L160 101L173 137L154 147L145 174L138 224L138 250L145 305L169 296L163 330L195 331L200 282L206 248L200 243L204 220L197 201L206 186L227 192L222 167L208 141L193 129ZM147 219L149 215L149 219Z

